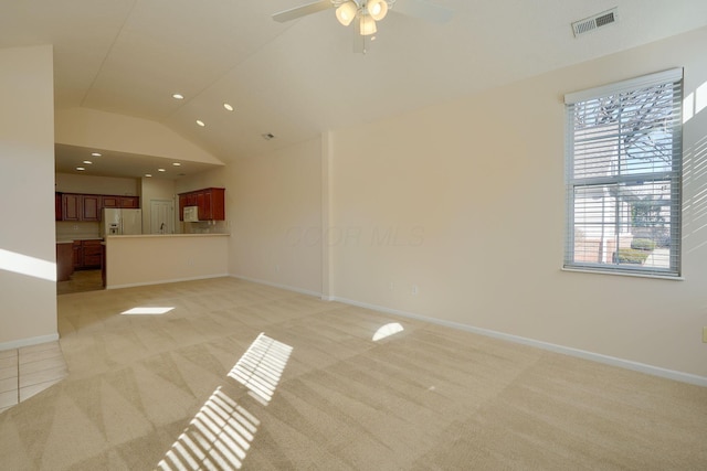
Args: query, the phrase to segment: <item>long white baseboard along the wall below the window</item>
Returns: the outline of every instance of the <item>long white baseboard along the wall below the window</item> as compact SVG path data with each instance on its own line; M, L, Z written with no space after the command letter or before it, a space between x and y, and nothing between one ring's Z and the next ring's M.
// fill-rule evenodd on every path
M445 321L442 319L428 318L412 312L405 312L398 309L384 308L382 306L369 304L366 302L354 301L351 299L330 297L329 301L344 302L345 304L351 304L359 308L371 309L373 311L386 312L393 315L400 315L403 318L415 319L419 321L430 322L432 324L444 325L452 329L458 329L466 332L477 333L479 335L490 336L494 339L505 340L514 343L521 343L524 345L535 346L537 349L547 350L550 352L561 353L564 355L576 356L578 358L590 360L598 363L603 363L611 366L618 366L625 370L632 370L634 372L645 373L653 376L659 376L668 379L678 381L682 383L689 383L697 386L707 387L707 377L698 376L690 373L683 373L674 370L666 370L659 366L647 365L645 363L633 362L630 360L618 358L615 356L602 355L601 353L588 352L585 350L573 349L571 346L558 345L555 343L542 342L539 340L528 339L525 336L511 335L504 332L498 332L488 329L475 328L473 325L462 324L458 322Z

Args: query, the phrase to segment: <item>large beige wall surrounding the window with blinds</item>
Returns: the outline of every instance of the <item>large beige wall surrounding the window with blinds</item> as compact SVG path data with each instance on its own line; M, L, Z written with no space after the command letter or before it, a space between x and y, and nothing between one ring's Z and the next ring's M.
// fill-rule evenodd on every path
M707 82L706 47L703 29L336 132L335 296L707 384L707 232L697 206L707 188L707 109L684 130L685 280L560 269L563 94L676 66L685 66L689 94Z

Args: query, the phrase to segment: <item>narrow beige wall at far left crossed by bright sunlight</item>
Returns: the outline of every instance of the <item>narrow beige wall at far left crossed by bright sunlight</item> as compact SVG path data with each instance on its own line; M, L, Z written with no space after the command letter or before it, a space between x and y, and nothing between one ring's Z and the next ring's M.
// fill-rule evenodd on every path
M57 338L52 54L0 50L0 350Z

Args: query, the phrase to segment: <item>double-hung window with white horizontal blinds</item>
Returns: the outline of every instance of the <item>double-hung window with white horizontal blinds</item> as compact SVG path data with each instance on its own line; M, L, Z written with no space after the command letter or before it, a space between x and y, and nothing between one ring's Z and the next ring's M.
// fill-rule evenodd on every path
M683 71L564 97L564 267L679 276Z

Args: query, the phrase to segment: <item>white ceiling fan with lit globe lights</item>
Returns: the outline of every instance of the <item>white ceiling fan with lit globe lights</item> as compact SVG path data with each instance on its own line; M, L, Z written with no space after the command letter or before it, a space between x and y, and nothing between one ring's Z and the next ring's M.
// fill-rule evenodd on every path
M354 23L355 52L366 52L366 36L378 30L376 23L395 11L436 23L445 23L454 12L428 0L319 0L273 14L273 20L284 23L323 10L336 9L336 18L344 26Z

